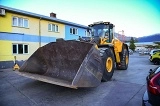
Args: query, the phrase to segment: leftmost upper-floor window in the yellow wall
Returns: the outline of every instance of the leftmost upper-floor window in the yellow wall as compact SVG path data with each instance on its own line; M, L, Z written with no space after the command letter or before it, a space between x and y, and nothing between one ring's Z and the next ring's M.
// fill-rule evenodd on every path
M12 25L18 27L28 28L28 19L21 18L21 17L13 17L12 18Z

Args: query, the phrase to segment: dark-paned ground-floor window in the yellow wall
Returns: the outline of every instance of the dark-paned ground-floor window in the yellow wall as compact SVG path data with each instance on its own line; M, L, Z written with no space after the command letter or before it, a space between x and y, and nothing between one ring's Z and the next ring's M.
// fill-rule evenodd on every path
M13 54L28 54L28 44L12 44Z

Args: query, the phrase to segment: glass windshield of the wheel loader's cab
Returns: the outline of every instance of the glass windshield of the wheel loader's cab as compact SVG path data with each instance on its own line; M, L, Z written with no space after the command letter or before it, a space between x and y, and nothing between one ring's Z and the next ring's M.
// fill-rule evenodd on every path
M109 26L105 24L94 25L91 28L92 36L104 37L105 34L109 35Z

